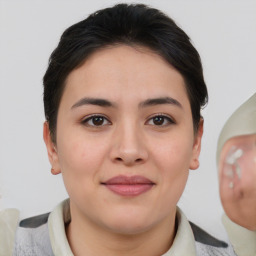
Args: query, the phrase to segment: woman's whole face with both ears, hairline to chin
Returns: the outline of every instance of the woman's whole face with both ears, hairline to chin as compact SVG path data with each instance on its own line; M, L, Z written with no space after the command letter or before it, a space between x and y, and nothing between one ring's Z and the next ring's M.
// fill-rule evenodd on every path
M147 48L115 46L72 71L59 106L55 173L72 216L123 234L174 221L188 170L198 167L182 76Z

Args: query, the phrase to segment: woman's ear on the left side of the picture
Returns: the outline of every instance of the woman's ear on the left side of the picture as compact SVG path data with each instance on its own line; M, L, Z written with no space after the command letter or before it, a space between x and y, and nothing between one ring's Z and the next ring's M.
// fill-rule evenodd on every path
M50 133L48 122L44 122L43 136L44 136L44 143L46 145L47 152L48 152L48 158L52 165L51 172L53 175L57 175L57 174L61 173L59 157L58 157L56 145L55 145L55 143L53 143L52 138L51 138L51 133Z

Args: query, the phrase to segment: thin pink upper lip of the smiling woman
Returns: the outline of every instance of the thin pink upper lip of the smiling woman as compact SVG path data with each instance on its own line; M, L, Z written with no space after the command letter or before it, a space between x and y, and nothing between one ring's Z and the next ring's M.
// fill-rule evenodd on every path
M105 185L135 185L135 184L155 184L150 179L134 175L134 176L125 176L125 175L119 175L115 176L113 178L108 179L105 182L102 182L102 184Z

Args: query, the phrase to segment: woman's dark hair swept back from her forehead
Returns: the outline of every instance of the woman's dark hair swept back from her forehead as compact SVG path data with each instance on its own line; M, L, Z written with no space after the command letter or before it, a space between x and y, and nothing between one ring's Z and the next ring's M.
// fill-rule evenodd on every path
M44 75L44 110L55 141L57 114L69 73L89 55L109 45L146 46L162 56L183 76L190 101L194 131L208 100L200 56L187 34L157 9L142 4L118 4L99 10L69 27L49 59Z

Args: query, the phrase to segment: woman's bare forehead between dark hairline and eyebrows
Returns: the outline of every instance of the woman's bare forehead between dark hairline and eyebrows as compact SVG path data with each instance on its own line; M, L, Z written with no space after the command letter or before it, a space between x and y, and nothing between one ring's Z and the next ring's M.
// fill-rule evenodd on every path
M110 100L171 96L188 102L184 79L176 69L146 47L125 45L93 53L69 74L65 94Z

